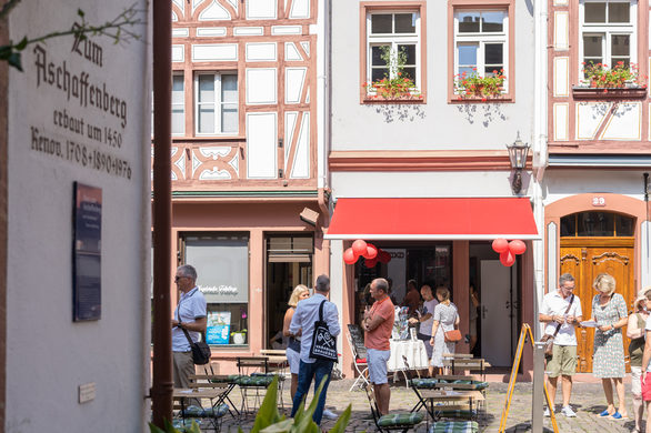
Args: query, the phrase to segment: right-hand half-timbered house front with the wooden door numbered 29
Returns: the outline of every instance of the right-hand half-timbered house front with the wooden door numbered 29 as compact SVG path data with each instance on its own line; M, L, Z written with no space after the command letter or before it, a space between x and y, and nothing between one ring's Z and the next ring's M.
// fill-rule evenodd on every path
M547 281L577 278L585 319L601 272L631 306L651 283L648 0L549 0L549 162L544 177ZM632 69L621 89L590 68ZM593 331L579 333L579 371L592 371ZM624 344L627 348L628 344Z

